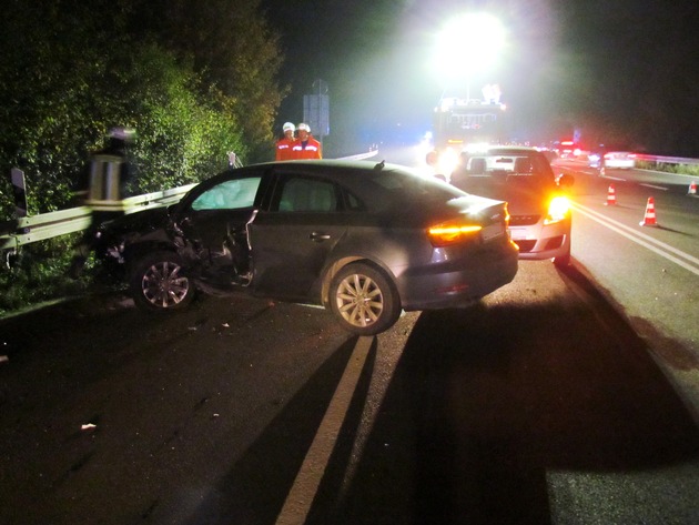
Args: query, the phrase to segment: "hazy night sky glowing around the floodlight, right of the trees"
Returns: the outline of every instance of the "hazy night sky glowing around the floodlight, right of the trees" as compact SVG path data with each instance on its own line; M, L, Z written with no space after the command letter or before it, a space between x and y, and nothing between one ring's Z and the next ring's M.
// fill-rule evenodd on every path
M327 82L331 148L416 140L443 92L464 82L434 69L444 23L488 12L506 30L497 61L470 92L497 83L511 138L571 137L699 158L699 2L630 0L263 0L286 55L292 92L280 123L303 117L303 95ZM458 69L458 64L455 63ZM356 144L355 144L356 143ZM345 153L343 151L343 153Z

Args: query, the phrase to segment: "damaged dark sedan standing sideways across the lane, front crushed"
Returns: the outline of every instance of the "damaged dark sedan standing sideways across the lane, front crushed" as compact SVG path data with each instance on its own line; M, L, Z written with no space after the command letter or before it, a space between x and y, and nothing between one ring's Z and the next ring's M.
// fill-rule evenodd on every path
M183 309L196 292L245 292L322 304L372 335L402 310L467 306L509 283L508 220L505 202L404 166L273 162L103 224L97 255L152 311Z

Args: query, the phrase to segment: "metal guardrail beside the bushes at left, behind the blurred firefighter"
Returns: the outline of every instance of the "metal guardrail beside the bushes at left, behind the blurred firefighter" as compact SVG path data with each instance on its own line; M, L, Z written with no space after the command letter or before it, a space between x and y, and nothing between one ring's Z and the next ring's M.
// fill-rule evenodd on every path
M122 201L124 213L173 204L179 202L194 185L188 184L172 190L130 196ZM80 232L90 225L91 220L92 209L79 206L6 221L0 223L0 250Z

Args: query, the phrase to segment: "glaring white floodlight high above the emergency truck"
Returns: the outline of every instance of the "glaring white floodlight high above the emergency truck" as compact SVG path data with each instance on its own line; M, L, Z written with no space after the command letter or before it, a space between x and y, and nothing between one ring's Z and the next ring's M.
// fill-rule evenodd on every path
M437 39L435 64L439 74L468 77L487 69L505 43L500 21L486 13L450 20Z

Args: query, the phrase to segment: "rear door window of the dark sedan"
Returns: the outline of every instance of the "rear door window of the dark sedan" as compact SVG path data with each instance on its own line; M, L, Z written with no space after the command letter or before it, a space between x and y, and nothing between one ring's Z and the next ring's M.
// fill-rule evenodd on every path
M283 181L278 211L334 212L337 210L335 184L321 179L292 176Z

